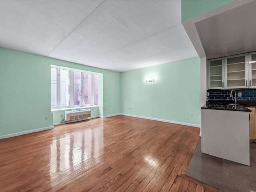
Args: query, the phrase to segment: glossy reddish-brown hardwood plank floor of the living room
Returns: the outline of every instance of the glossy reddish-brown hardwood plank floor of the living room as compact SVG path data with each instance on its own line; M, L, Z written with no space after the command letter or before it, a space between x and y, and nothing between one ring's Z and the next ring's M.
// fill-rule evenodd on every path
M199 132L119 115L2 139L0 191L172 191Z

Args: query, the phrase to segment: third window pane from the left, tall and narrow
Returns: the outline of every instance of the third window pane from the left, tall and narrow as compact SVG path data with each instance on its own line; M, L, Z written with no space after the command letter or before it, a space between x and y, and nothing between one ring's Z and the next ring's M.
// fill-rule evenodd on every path
M82 105L82 73L74 71L74 105Z

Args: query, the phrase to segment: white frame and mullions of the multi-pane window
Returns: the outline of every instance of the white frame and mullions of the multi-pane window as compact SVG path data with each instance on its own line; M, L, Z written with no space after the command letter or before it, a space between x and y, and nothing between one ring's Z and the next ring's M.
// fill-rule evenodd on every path
M58 109L58 108L70 108L70 107L81 107L81 106L93 106L94 105L94 76L97 75L95 73L91 73L88 71L83 71L83 70L76 70L76 69L66 69L66 68L58 68L56 66L51 66L51 68L56 68L56 76L57 76L57 107L51 107L51 109ZM70 73L70 106L60 106L60 70L69 70ZM80 88L81 90L81 95L82 95L82 101L80 105L75 105L74 104L74 72L81 72L82 73L82 78L81 78L81 85ZM84 105L84 73L91 74L91 104L85 104ZM77 85L76 85L77 86Z

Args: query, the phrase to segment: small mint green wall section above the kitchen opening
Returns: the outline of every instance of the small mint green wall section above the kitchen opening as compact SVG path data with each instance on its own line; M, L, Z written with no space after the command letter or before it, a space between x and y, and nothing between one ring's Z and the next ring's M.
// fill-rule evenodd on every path
M234 0L181 0L181 20L187 20Z

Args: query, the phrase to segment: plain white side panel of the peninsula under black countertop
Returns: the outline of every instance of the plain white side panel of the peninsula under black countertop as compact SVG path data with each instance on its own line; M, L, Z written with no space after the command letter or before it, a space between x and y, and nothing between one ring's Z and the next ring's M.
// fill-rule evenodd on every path
M249 112L201 109L202 153L250 166Z

